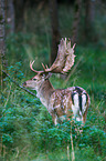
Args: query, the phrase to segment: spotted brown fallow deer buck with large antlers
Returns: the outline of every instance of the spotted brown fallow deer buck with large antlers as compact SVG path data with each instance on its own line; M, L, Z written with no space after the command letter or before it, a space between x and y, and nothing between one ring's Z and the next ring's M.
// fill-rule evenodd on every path
M89 95L81 87L70 87L67 89L54 89L49 78L51 73L66 73L74 64L74 47L71 48L71 41L62 39L59 44L57 57L51 68L43 66L42 71L30 68L36 73L35 77L25 81L24 87L36 90L36 97L41 100L52 115L54 124L57 124L63 118L74 117L77 121L85 123L89 107ZM66 117L64 117L66 115Z

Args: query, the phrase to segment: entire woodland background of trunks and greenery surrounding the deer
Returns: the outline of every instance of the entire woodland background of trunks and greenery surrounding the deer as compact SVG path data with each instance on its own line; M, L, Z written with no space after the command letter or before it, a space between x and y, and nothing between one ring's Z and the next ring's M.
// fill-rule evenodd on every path
M70 123L54 127L40 100L19 87L34 74L30 60L36 70L52 64L61 38L76 43L75 64L51 82L91 97L83 133L78 122L72 128L75 161L106 160L106 1L0 0L0 161L72 160Z

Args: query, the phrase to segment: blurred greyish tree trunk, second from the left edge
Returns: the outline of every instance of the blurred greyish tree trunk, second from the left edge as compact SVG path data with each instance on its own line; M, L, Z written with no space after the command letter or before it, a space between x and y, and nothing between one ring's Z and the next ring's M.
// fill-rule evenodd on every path
M14 32L14 6L13 0L7 0L7 23L8 33Z

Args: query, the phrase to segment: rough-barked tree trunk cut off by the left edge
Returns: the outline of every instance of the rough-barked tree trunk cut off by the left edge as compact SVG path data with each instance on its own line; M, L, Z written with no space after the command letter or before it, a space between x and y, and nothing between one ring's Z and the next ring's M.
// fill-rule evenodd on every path
M6 30L4 30L4 18L6 18L6 12L4 12L4 0L0 0L0 84L2 89L2 68L6 66L6 44L4 44L4 36L6 36Z

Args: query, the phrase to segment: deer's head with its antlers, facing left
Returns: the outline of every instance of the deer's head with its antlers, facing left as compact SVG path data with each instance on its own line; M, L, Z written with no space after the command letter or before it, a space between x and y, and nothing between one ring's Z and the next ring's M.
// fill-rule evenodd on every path
M66 41L62 39L61 43L59 44L59 51L57 57L54 61L54 63L47 68L44 67L42 63L43 70L36 71L33 69L34 61L30 62L30 69L35 72L35 77L33 77L31 80L28 80L23 83L24 87L32 88L36 90L45 80L52 76L52 73L66 73L68 70L71 70L72 66L74 64L74 47L71 48L71 41Z

